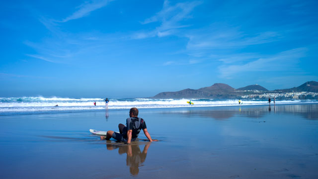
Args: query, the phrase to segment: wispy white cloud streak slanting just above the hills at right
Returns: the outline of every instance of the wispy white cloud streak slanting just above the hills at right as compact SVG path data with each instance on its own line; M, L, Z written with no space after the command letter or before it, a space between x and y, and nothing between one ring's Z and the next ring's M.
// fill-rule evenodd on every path
M305 57L306 52L306 48L297 48L278 53L271 57L261 57L245 64L222 65L219 67L220 77L232 78L238 73L246 72L288 71L291 68L295 68L300 58Z

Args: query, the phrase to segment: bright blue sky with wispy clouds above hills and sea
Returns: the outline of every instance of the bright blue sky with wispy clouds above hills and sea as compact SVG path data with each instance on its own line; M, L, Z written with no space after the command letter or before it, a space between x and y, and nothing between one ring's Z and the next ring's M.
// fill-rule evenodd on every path
M149 97L318 81L317 0L12 0L0 97Z

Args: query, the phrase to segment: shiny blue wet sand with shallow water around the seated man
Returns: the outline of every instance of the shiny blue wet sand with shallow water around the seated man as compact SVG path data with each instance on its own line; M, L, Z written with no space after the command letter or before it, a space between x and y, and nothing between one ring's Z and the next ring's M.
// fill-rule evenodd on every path
M128 112L0 116L0 178L318 178L318 104L140 109L152 143L89 133Z

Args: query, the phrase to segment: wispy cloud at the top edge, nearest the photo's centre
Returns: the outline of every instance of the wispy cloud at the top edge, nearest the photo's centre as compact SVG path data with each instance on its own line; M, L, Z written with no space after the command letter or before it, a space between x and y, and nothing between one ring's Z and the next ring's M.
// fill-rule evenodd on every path
M148 24L152 22L159 22L160 25L156 29L147 32L138 32L133 34L132 38L142 39L148 37L163 37L172 35L177 32L177 29L188 27L188 24L182 24L185 19L192 18L191 11L197 5L201 4L200 1L193 2L180 2L175 5L171 5L168 0L163 2L163 8L156 15L141 22L142 24Z

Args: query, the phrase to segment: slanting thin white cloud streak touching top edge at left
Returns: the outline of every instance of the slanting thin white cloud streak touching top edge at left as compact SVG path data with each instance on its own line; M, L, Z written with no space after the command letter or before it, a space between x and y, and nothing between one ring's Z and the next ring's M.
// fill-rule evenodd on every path
M90 12L97 10L101 7L104 7L107 5L108 2L112 0L92 0L90 2L85 2L81 5L79 5L77 8L79 8L77 11L75 11L70 16L64 18L63 20L56 20L57 22L67 22L69 20L78 19L84 16L87 16L90 14Z

